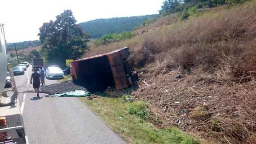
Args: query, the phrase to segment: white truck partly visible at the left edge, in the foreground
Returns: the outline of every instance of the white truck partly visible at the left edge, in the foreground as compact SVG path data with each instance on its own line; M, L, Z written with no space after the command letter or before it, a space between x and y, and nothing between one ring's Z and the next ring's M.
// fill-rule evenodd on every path
M4 90L7 75L4 25L0 23L0 144L28 144L13 72L12 89Z

